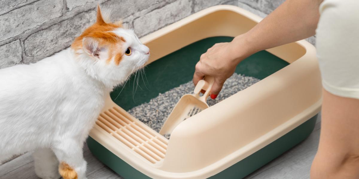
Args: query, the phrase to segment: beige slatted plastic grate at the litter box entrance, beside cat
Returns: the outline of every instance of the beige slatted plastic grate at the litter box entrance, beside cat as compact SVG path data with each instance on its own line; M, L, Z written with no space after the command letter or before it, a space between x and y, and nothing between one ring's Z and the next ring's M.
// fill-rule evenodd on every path
M168 140L133 118L125 110L113 107L101 113L96 124L151 163L164 159Z

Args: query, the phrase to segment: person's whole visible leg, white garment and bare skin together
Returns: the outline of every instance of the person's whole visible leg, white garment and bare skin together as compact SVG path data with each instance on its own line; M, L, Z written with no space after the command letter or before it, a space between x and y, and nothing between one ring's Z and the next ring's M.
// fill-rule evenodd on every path
M358 7L358 0L320 5L316 47L325 90L312 179L359 178Z

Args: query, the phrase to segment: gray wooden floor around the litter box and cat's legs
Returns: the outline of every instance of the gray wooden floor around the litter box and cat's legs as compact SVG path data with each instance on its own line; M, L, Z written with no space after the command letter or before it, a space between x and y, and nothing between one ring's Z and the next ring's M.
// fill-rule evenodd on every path
M308 179L309 169L318 148L320 123L321 116L306 140L248 175L246 179ZM121 179L121 176L98 161L90 153L87 145L84 147L84 157L88 163L88 179ZM31 153L0 165L0 179L38 179L34 172Z

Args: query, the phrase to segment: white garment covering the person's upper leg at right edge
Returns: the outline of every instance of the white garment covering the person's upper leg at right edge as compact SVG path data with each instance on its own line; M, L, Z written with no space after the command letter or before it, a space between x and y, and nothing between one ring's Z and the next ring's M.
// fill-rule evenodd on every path
M359 99L359 0L320 5L316 48L324 89Z

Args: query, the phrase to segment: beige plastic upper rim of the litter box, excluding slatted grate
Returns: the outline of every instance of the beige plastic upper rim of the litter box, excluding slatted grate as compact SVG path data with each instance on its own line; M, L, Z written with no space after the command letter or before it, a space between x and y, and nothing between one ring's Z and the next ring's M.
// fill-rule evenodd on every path
M213 6L140 40L153 52L150 63L203 38L237 36L261 19L236 6ZM291 64L183 121L172 132L164 159L156 163L150 163L98 125L90 136L151 178L215 175L320 111L322 86L313 45L300 40L267 51ZM108 96L103 111L113 106L117 105Z

